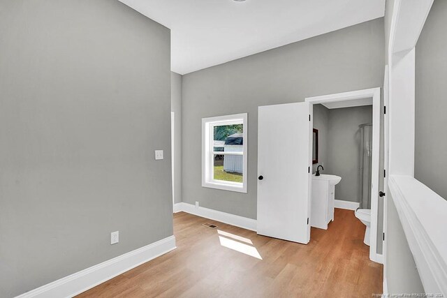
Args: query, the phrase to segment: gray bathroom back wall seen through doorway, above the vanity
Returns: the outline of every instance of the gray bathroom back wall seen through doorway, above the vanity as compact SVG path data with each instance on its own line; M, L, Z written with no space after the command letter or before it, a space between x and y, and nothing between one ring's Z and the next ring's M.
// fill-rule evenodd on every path
M372 106L329 110L326 174L342 177L335 200L360 202L360 124L372 123Z

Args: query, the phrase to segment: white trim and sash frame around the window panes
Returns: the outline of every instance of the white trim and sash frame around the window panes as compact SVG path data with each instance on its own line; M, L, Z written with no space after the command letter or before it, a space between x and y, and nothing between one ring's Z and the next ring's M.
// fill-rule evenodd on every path
M247 113L243 114L233 114L219 117L209 117L202 119L202 186L207 188L217 188L223 191L236 191L239 193L247 193L247 149L248 149L248 139L247 139ZM210 127L225 124L243 124L244 125L244 150L243 150L243 166L244 172L242 173L242 185L237 182L231 181L220 181L214 180L213 177L213 167L211 166L214 158L214 151L210 148L210 140L214 140L213 130ZM230 154L218 152L216 154ZM231 153L232 155L237 155L237 153Z

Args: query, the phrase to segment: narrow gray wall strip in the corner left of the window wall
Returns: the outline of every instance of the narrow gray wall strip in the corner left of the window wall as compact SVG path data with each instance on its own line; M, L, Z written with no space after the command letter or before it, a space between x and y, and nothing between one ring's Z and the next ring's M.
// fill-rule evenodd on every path
M174 124L174 197L182 202L182 75L171 73L170 110L175 113Z

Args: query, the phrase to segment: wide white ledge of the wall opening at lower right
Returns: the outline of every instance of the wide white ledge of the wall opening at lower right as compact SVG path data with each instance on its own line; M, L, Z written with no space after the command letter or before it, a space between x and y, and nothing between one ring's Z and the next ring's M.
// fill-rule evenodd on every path
M410 176L388 182L425 292L447 295L447 201Z

